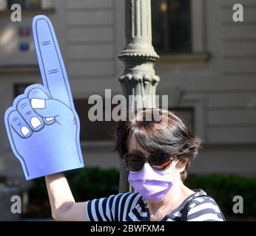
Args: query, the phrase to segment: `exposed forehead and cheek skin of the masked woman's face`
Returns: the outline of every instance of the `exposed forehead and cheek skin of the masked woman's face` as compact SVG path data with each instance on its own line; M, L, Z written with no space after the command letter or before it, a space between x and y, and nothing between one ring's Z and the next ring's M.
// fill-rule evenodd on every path
M136 142L134 137L131 137L130 142L129 142L129 148L128 148L129 153L143 153L146 158L148 158L150 155L153 153L149 153L147 150L144 150L140 145L138 145L138 142ZM179 167L179 162L175 165L178 159L174 159L172 163L169 165L169 168L172 169L170 178L172 178L172 181L175 181L177 179L181 180L181 168Z

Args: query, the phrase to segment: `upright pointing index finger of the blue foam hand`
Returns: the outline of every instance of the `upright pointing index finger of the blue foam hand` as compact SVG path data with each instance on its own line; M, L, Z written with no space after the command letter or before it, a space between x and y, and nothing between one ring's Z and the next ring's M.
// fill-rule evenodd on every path
M33 39L44 88L56 100L73 108L73 99L58 41L49 18L33 18Z

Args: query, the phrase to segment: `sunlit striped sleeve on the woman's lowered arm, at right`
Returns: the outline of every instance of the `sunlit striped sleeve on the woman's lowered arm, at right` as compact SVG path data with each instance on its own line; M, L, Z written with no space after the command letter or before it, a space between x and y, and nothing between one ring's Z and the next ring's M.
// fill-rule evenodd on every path
M218 204L209 197L195 198L189 206L187 221L224 221Z

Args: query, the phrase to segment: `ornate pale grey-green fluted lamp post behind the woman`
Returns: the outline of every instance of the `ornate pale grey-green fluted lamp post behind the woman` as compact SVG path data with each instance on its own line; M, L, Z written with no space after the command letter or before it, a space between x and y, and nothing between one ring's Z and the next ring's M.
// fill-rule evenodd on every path
M135 100L135 110L155 108L155 90L160 79L154 69L159 56L152 46L151 0L125 0L125 23L127 41L119 55L124 62L124 74L119 77L123 94L127 103L129 95L141 97ZM121 162L119 192L132 190L127 178L128 172Z

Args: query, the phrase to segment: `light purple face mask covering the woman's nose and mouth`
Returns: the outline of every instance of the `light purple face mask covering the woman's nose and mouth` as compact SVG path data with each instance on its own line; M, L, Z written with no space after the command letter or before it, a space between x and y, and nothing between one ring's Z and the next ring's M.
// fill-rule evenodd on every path
M177 164L177 162L176 162ZM158 171L145 164L143 170L129 172L129 184L148 201L161 201L172 188L171 170Z

